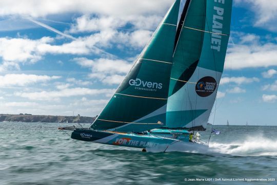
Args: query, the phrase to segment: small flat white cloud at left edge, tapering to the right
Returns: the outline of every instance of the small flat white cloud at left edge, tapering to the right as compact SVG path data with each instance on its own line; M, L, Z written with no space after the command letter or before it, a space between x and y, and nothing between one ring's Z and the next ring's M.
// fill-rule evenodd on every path
M0 87L27 86L34 83L47 82L60 79L58 76L46 75L26 75L26 74L8 74L0 76Z

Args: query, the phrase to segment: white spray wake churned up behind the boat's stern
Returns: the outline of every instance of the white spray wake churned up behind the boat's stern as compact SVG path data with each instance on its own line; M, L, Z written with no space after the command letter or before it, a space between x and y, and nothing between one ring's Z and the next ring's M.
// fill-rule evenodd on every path
M277 140L256 136L241 142L211 142L209 151L233 156L277 156Z

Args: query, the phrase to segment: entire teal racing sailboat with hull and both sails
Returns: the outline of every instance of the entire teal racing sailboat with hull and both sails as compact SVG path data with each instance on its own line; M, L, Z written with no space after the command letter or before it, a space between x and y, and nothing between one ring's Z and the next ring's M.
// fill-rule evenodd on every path
M222 76L232 1L176 0L90 128L63 127L72 139L167 151L205 144ZM195 133L197 132L197 133Z

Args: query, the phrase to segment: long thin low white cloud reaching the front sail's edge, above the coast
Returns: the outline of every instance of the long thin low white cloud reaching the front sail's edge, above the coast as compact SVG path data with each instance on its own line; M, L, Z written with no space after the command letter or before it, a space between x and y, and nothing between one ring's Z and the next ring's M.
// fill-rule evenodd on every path
M89 88L67 88L59 91L41 91L34 93L14 93L15 96L28 98L30 100L41 101L58 101L60 98L76 97L76 96L96 96L105 95L107 97L112 96L115 89L89 89Z

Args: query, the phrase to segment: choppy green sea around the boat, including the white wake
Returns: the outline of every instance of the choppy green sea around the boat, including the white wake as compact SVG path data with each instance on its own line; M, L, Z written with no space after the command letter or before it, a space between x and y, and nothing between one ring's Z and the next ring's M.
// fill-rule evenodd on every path
M214 126L206 152L143 153L57 130L70 125L0 122L0 184L277 184L274 126Z

